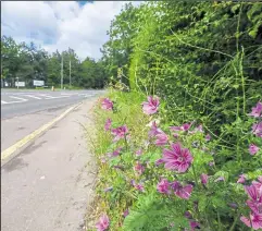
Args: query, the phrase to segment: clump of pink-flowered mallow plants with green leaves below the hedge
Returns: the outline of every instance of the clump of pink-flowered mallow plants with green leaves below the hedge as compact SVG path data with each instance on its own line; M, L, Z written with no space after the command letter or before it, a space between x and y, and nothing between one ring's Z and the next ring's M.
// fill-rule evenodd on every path
M125 202L122 229L262 229L262 104L233 124L244 134L236 147L220 145L197 120L162 124L158 97L141 106L149 129L139 145L126 124L110 118L104 124L112 144L102 162L115 171L104 197ZM102 109L117 113L109 98ZM115 222L104 214L97 229Z

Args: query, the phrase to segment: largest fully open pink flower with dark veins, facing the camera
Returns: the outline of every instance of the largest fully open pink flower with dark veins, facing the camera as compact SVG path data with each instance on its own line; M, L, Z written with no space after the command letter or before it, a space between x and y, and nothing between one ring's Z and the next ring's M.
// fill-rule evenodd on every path
M187 148L182 148L180 144L172 144L171 150L163 149L163 161L165 168L176 170L178 172L185 172L192 162L192 156Z

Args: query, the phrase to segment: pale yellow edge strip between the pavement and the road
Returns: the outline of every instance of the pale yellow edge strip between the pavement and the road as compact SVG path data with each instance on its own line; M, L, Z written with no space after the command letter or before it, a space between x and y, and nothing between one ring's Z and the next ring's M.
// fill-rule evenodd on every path
M16 142L14 145L12 145L9 148L1 151L1 167L3 167L11 159L13 159L15 156L17 156L29 144L32 144L36 138L41 136L45 132L47 132L49 129L51 129L55 123L58 123L60 120L62 120L64 117L66 117L71 111L78 108L82 104L83 104L83 101L70 107L62 114L54 118L52 121L43 124L42 126L40 126L39 129L37 129L33 133L30 133L29 135L26 135L18 142Z

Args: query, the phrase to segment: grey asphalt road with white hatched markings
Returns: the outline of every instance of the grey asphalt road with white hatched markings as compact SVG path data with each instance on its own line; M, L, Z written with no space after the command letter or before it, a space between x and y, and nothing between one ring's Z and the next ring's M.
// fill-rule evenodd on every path
M100 95L102 92L1 89L1 120L51 108L63 108Z

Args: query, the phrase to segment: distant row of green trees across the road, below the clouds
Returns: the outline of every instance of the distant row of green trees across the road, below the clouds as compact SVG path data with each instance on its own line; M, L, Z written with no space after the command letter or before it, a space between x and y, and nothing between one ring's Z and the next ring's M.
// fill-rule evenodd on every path
M45 81L46 86L61 86L61 63L63 58L63 86L74 88L102 88L107 77L102 61L87 57L80 61L75 51L68 48L52 54L37 48L34 42L17 44L12 37L1 37L1 86L15 86L15 81L34 87L33 81ZM71 62L71 64L70 64ZM70 70L71 66L71 70Z

